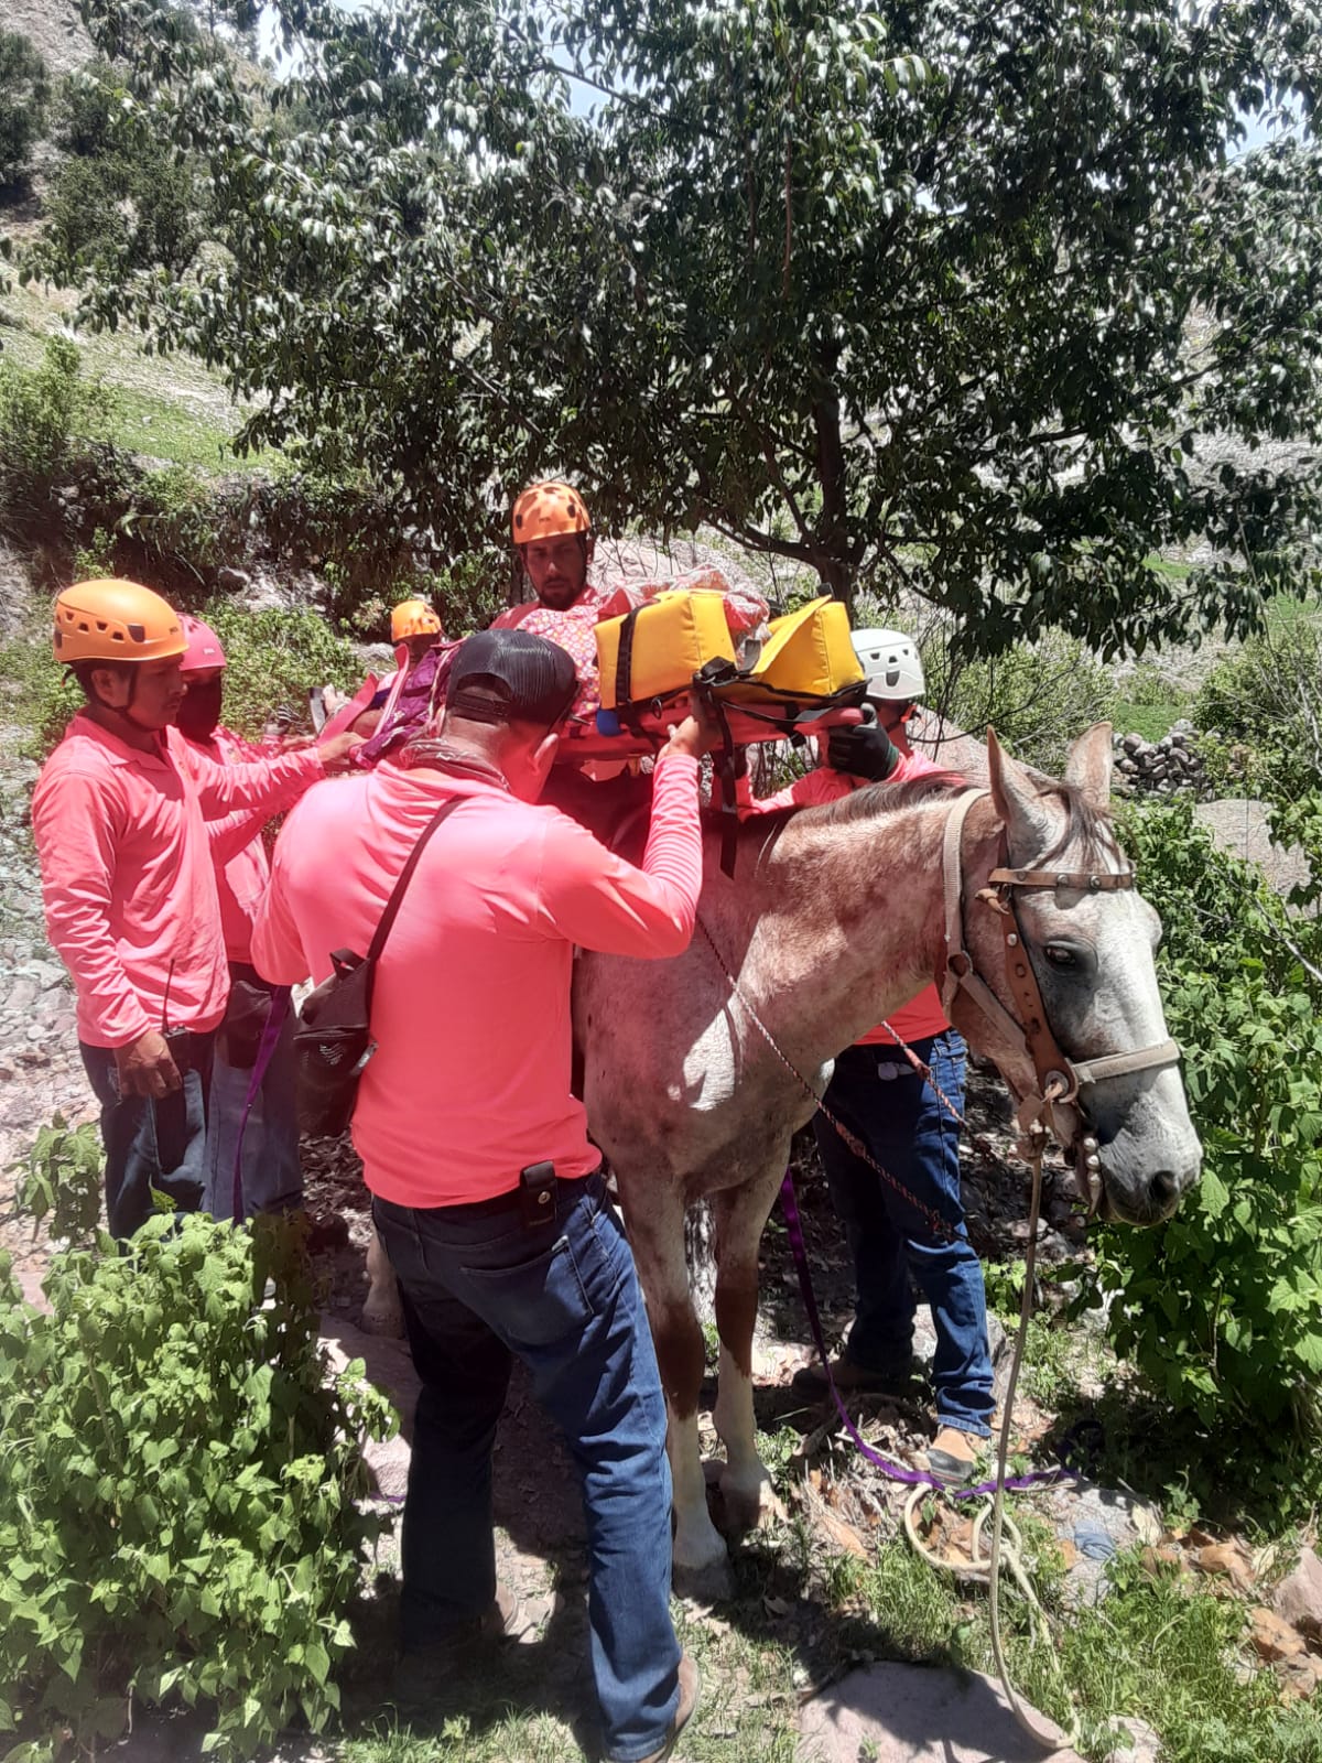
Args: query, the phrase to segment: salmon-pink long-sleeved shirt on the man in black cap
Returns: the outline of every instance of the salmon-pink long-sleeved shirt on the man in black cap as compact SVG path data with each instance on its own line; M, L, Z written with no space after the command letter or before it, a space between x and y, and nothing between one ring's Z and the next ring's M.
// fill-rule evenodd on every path
M696 760L657 760L640 869L559 809L462 772L384 763L298 804L252 945L277 984L326 978L335 948L367 954L420 834L462 797L421 855L375 973L377 1051L353 1118L374 1194L457 1206L508 1194L543 1158L564 1178L598 1167L569 1093L573 950L687 948L702 889L696 779Z

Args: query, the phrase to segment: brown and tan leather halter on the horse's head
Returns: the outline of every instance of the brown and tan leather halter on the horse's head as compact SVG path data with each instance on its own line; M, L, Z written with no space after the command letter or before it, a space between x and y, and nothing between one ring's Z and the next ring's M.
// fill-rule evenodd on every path
M1042 1003L1033 963L1028 959L1022 926L1015 910L1015 890L1026 887L1075 889L1082 894L1116 894L1133 887L1133 869L992 869L989 887L978 892L978 901L998 913L1005 934L1005 978L1015 1000L1021 1019L1010 1015L996 993L973 966L973 956L964 947L964 871L961 862L964 822L975 802L989 797L989 790L969 790L947 820L943 846L945 889L945 971L941 975L941 1008L947 1021L961 987L1001 1035L1015 1045L1022 1042L1033 1060L1036 1090L1019 1097L1017 1121L1022 1134L1040 1130L1045 1118L1061 1149L1079 1158L1079 1181L1089 1208L1096 1211L1102 1201L1102 1158L1091 1132L1088 1109L1079 1098L1086 1084L1100 1084L1110 1077L1128 1077L1179 1061L1174 1040L1158 1040L1133 1053L1110 1053L1100 1060L1070 1060L1061 1051L1047 1008ZM1001 829L1001 852L1008 859L1008 836ZM1012 1086L1014 1088L1014 1086Z

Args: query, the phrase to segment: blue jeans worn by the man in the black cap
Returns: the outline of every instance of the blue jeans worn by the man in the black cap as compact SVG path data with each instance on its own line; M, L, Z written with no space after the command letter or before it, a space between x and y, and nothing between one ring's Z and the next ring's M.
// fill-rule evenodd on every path
M666 1405L638 1275L599 1174L561 1181L555 1224L516 1194L414 1211L375 1199L423 1391L404 1504L404 1647L495 1596L492 1444L513 1356L578 1470L587 1617L606 1754L661 1745L679 1705L670 1622Z

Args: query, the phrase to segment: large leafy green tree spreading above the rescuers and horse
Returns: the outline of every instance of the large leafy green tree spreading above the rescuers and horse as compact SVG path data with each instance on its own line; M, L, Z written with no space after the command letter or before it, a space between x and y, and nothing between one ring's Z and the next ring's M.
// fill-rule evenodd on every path
M982 649L1248 629L1304 571L1315 478L1255 451L1322 427L1303 4L284 0L266 93L155 0L86 11L220 247L88 312L455 547L571 469Z

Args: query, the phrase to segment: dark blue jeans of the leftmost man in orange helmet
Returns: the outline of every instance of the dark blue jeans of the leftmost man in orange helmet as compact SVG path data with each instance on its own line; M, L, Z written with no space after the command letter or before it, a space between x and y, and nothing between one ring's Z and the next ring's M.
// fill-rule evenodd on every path
M215 1031L189 1035L183 1088L153 1102L120 1097L111 1047L79 1040L83 1068L100 1102L100 1142L106 1146L106 1224L129 1238L152 1216L152 1190L167 1194L180 1211L197 1211L204 1185L206 1097Z

